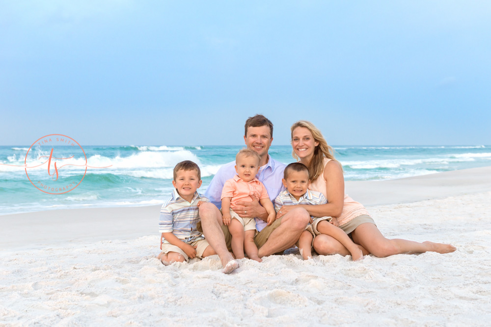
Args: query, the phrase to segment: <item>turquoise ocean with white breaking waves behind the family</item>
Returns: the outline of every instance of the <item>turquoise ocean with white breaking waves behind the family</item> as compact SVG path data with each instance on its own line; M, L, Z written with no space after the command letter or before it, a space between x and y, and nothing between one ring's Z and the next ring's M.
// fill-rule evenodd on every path
M163 203L172 191L173 167L182 160L192 160L199 165L203 179L199 191L204 193L220 166L234 160L242 148L83 146L82 152L80 147L73 146L37 145L30 150L29 146L0 146L0 215ZM47 164L32 167L47 161L51 149L50 175L53 176L48 176ZM491 165L491 146L484 145L334 146L334 149L346 180L395 179ZM294 161L289 145L272 146L269 153L286 164ZM88 167L85 167L85 157ZM50 194L55 193L54 187L53 192L47 192L55 185L55 177L63 187L66 184L67 190L81 182L68 193ZM73 186L68 187L72 182Z

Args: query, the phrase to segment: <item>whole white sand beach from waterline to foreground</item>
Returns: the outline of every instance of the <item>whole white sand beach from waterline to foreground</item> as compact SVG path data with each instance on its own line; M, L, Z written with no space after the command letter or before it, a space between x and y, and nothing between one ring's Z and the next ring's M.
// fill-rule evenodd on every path
M491 167L347 182L388 238L457 251L360 262L295 250L165 267L159 205L0 216L0 326L489 326Z

